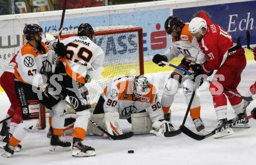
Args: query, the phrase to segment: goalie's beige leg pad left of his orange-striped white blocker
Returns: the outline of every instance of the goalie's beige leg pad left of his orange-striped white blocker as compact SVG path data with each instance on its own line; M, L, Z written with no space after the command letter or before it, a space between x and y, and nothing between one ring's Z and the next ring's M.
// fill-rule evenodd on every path
M104 123L104 116L105 116L104 113L91 114L91 120L97 123L99 127L106 129L106 126ZM87 127L87 135L103 135L103 134L102 134L102 131L100 131L97 127L95 127L93 124L89 122Z

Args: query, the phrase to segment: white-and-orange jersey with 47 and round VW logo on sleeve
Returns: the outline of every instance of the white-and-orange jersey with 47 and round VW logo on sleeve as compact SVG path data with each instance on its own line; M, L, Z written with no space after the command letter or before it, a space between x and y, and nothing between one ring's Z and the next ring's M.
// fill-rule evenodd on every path
M55 52L47 49L44 42L41 42L42 51L34 48L29 43L20 48L16 56L15 77L23 83L43 87L42 73L52 71L49 61L55 56ZM44 63L44 66L43 66ZM46 82L45 82L46 83Z

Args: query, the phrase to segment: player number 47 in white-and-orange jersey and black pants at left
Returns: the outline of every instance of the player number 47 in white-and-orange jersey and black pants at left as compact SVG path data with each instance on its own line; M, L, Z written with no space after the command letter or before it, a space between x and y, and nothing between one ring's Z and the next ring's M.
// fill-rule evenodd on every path
M53 98L45 91L47 78L42 74L45 72L51 73L51 64L47 62L47 56L53 57L55 52L49 50L47 45L41 42L45 35L42 28L37 24L26 25L23 33L26 36L27 43L20 48L15 60L15 89L21 106L23 123L17 125L4 148L5 152L2 153L2 156L12 156L13 149L26 137L28 131L35 127L39 116L40 103L56 114L52 123L58 131L53 132L52 148L70 150L70 142L62 141L59 138L64 125L66 103ZM56 53L59 53L58 49L56 49Z

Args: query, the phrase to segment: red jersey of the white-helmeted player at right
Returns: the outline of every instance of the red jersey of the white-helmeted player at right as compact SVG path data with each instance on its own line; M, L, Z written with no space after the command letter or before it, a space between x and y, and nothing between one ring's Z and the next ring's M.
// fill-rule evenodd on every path
M197 15L207 22L207 32L198 44L201 51L207 56L202 65L204 71L218 70L227 58L227 51L234 46L232 36L218 24L213 23L205 13Z

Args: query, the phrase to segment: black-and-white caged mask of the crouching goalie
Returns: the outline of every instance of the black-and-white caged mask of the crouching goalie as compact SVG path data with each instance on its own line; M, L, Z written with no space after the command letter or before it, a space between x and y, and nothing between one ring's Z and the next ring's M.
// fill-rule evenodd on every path
M150 83L148 83L148 80L144 76L136 76L134 78L134 84L133 84L133 94L137 98L141 98L150 92Z

